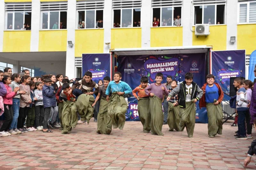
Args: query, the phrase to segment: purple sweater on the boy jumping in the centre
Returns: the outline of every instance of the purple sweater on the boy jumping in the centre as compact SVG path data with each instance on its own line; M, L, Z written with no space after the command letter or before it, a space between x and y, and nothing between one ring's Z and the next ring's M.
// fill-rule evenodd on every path
M164 87L164 90L162 90L162 87ZM160 84L157 86L155 83L152 83L145 89L145 93L147 95L154 93L155 96L159 97L160 99L163 99L164 95L168 96L168 90L166 89L165 84Z

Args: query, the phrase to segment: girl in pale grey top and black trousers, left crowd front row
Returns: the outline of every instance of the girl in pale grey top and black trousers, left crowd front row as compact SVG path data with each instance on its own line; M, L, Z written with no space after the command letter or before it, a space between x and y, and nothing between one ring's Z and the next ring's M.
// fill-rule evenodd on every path
M34 91L35 98L35 112L36 112L36 127L37 130L43 130L44 120L44 102L43 102L43 83L38 81L35 84L36 89Z

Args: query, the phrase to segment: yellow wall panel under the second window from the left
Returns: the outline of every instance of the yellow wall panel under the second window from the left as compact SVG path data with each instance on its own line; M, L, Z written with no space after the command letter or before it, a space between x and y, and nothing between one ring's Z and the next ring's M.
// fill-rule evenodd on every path
M67 30L39 31L38 51L67 51Z

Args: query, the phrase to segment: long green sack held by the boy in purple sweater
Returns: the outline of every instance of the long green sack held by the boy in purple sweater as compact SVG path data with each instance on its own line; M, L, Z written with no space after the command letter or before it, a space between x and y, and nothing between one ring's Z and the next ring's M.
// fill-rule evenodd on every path
M162 109L162 99L157 96L149 98L150 113L151 113L151 134L164 135L162 133L162 126L164 121L164 113Z

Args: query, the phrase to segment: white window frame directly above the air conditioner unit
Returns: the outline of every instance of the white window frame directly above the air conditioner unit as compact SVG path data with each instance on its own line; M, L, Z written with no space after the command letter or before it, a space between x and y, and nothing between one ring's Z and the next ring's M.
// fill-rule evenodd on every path
M200 4L200 5L193 5L193 26L195 26L195 7L200 7L202 6L202 23L201 24L204 24L203 23L203 19L204 19L204 6L210 6L210 5L215 5L215 14L214 14L214 20L215 20L215 23L214 24L210 24L210 26L223 26L223 25L226 25L226 20L227 20L227 13L226 13L226 10L227 10L227 3L211 3L211 4ZM225 5L225 11L224 11L224 23L223 24L217 24L217 5Z

